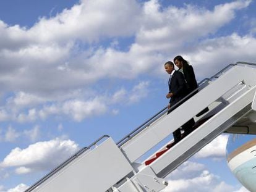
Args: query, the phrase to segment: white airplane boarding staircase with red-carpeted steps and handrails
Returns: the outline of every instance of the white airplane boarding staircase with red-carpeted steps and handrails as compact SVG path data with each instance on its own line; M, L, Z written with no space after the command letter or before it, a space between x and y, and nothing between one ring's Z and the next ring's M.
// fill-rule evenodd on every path
M250 125L242 123L249 116L256 117L256 64L228 65L203 80L195 91L174 111L167 115L164 108L117 144L105 135L80 149L26 191L161 191L168 185L164 178L216 136L223 132L256 134L256 120ZM208 112L196 117L207 107ZM156 155L151 152L192 117L196 122L192 133L171 149L164 144ZM143 163L136 162L148 151L154 154Z

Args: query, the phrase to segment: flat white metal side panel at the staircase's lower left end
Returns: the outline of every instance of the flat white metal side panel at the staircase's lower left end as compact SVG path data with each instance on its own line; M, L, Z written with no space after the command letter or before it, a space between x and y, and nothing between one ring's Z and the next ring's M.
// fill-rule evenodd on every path
M131 172L132 166L111 138L75 159L34 191L106 191Z

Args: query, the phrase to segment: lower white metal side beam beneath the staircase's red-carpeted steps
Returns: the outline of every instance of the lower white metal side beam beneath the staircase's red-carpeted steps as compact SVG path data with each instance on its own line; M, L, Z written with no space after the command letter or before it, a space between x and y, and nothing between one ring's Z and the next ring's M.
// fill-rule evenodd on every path
M229 104L229 106L225 107L210 120L203 123L203 125L190 133L190 135L188 135L186 139L180 141L171 150L169 150L163 156L156 159L155 162L150 164L150 167L154 170L156 175L158 175L159 173L161 174L161 176L168 174L183 161L186 161L186 159L192 156L192 154L208 144L216 136L220 135L224 130L226 130L226 128L233 125L233 123L240 119L242 115L245 115L246 112L249 112L251 110L250 108L247 109L248 111L244 111L242 112L242 114L234 116L239 111L244 109L245 106L248 106L252 102L253 93L255 90L256 87L252 90L249 90L248 93L245 93L243 96L241 96L241 98L237 98L236 101L233 101L231 104ZM225 124L227 120L228 123ZM221 127L221 125L224 126ZM220 130L218 130L219 128ZM194 150L192 150L193 147ZM187 152L189 150L190 152ZM177 159L179 159L179 161L177 161ZM170 164L171 166L169 166ZM166 173L164 173L163 170L166 169L166 167L168 166L169 169L166 170Z

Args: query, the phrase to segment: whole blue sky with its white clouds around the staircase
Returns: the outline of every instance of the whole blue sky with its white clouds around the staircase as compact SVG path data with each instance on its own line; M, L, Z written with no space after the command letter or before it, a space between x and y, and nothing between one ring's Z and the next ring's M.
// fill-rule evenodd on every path
M105 134L119 141L160 111L174 56L198 81L255 62L255 16L250 0L2 0L0 191L23 191L77 149ZM227 141L170 175L176 191L246 191L226 165Z

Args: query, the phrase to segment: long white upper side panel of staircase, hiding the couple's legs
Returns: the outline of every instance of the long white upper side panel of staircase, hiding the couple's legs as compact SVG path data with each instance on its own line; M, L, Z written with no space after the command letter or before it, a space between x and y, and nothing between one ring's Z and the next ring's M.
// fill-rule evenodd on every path
M247 78L248 77L248 78ZM254 77L254 78L251 78ZM242 81L246 81L246 88L256 84L256 70L249 67L235 66L224 73L216 81L205 87L202 91L195 94L192 98L179 106L171 114L158 120L158 123L150 125L147 129L140 132L132 140L129 140L121 148L130 162L136 161L142 154L153 148L170 133L181 127L189 119L194 117L205 107L221 98L224 94L235 88ZM241 88L244 90L245 86ZM236 91L235 93L239 93ZM230 98L234 99L234 96Z

